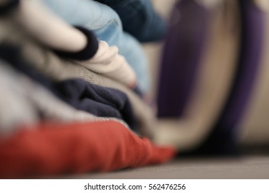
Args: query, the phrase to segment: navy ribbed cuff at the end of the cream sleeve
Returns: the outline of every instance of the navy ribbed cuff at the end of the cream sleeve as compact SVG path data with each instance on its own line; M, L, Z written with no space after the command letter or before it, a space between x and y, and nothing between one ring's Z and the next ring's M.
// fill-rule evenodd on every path
M79 52L65 52L61 50L54 50L56 54L58 54L60 57L65 57L68 59L74 59L74 60L88 60L91 59L97 52L99 43L93 32L90 30L87 30L86 28L81 28L79 26L74 26L74 28L77 28L83 34L85 34L87 38L87 45L86 47L79 51Z

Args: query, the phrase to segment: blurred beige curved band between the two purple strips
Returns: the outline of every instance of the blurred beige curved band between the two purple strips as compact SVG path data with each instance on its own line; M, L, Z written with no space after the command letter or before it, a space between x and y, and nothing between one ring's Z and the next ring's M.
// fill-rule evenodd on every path
M186 112L181 119L157 122L156 143L174 145L181 151L196 148L208 136L223 108L239 47L237 7L233 0L226 3L231 11L228 14L221 10L221 6L211 10L208 44Z

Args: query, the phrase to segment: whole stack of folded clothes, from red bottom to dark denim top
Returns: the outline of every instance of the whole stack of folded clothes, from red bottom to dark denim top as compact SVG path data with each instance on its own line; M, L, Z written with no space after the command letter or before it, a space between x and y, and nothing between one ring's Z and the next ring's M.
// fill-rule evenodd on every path
M0 1L0 177L163 163L140 42L166 35L151 1ZM146 138L146 136L148 138Z

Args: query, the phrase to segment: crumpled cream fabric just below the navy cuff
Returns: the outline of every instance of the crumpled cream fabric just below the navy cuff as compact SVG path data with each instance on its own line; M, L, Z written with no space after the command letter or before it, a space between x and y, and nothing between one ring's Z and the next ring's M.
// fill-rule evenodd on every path
M126 59L119 55L119 50L116 46L109 47L105 41L99 41L97 53L88 61L74 61L79 65L84 66L92 72L103 74L105 77L114 79L128 88L135 86L137 77L134 70L127 63Z

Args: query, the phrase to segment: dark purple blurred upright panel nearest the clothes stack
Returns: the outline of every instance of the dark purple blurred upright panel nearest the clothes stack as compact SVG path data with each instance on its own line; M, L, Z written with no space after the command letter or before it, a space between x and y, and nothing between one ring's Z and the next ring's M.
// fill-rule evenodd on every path
M183 0L175 6L160 67L159 117L179 117L186 107L206 43L209 21L210 12L196 1Z

